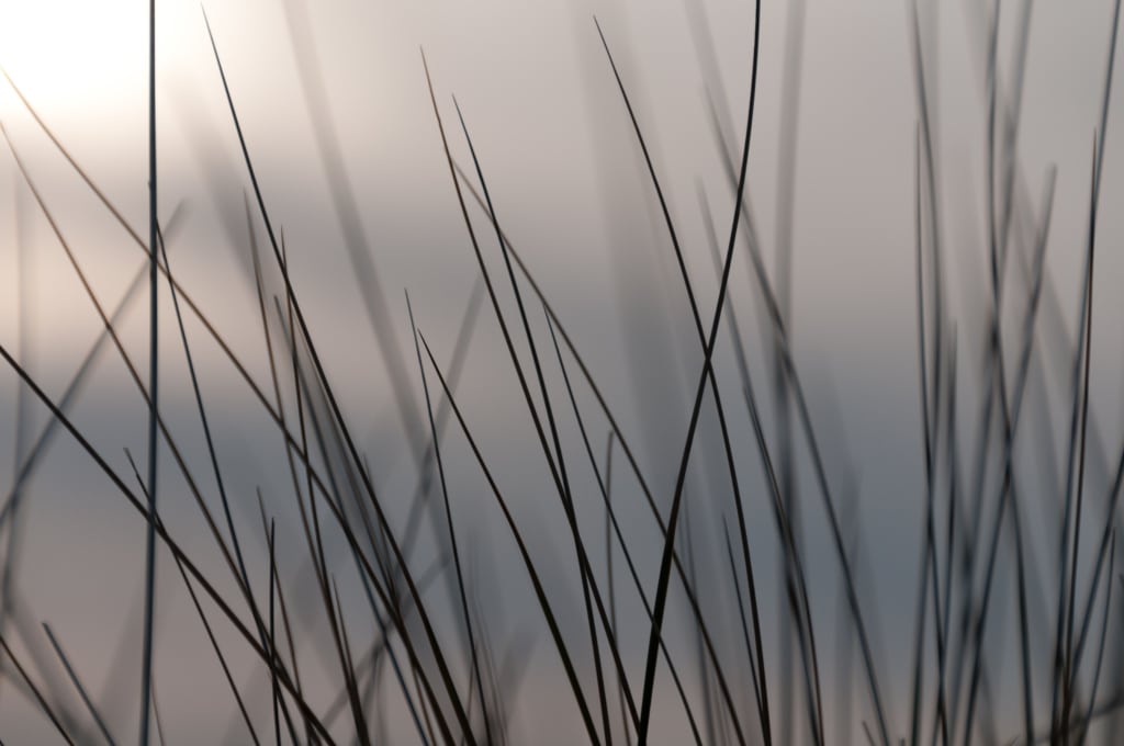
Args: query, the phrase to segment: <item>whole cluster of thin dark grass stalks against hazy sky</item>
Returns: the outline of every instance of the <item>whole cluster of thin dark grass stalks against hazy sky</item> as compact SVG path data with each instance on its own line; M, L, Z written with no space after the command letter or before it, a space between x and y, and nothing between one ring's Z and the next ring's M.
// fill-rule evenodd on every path
M787 88L798 85L803 2L792 4L796 10L782 35L781 29L763 28L761 0L755 0L740 72L747 93L746 111L735 116L722 97L710 97L715 147L726 166L723 203L732 201L734 207L728 213L713 210L707 192L700 189L706 235L690 239L673 219L668 188L645 139L645 122L629 98L629 80L613 56L611 29L596 21L591 25L590 31L604 48L605 74L613 76L618 89L618 113L638 147L638 163L650 188L646 197L659 210L661 251L674 260L678 289L697 337L689 362L695 377L689 381L687 426L674 434L681 446L672 484L655 483L645 473L638 435L620 426L616 397L599 383L595 361L582 355L581 339L568 330L506 233L504 204L489 189L489 163L475 149L455 99L442 103L439 79L430 75L424 54L418 60L424 73L419 84L428 88L434 147L444 153L452 188L435 201L444 200L446 209L459 211L465 251L471 251L479 270L451 349L436 348L415 325L408 295L404 299L410 319L406 344L404 330L390 321L389 308L396 301L384 292L386 278L372 260L362 209L319 90L315 51L310 39L293 34L300 82L335 217L363 291L366 318L359 325L369 324L386 365L396 422L411 462L411 486L405 490L398 482L388 486L389 480L371 468L356 434L366 415L344 407L333 388L319 333L306 317L307 306L297 289L299 279L289 272L289 253L300 249L287 246L281 221L263 195L252 144L239 124L238 90L229 84L223 66L220 35L212 35L210 42L250 186L245 251L252 262L257 309L251 322L260 325L266 349L265 379L252 373L248 353L227 342L219 319L197 303L170 264L164 237L175 229L179 212L163 221L157 215L155 78L145 239L99 188L97 178L56 138L20 92L18 81L4 73L25 113L146 260L120 302L103 303L54 219L55 207L36 188L35 164L20 156L4 130L11 163L65 251L102 330L61 390L45 390L25 367L18 349L0 346L0 356L20 386L13 420L17 464L0 504L7 535L0 588L3 695L26 699L66 743L114 744L132 739L135 733L142 744L154 739L190 743L190 734L166 734L165 742L162 710L179 703L162 701L154 686L154 666L160 659L154 629L160 612L157 581L169 582L160 580L158 561L174 566L176 582L182 584L176 592L190 597L192 612L206 633L214 657L210 673L229 693L233 743L550 740L544 734L528 733L526 724L515 725L531 652L526 639L505 636L490 624L493 616L484 608L481 588L492 581L481 576L473 561L470 536L462 528L466 519L461 481L446 456L450 448L457 448L471 455L469 464L478 471L477 479L482 476L490 509L501 516L506 534L496 540L514 544L514 562L529 583L536 625L531 638L561 682L554 690L561 694L552 707L572 713L574 734L583 740L606 745L679 743L680 738L743 746L862 739L885 746L906 742L1068 745L1099 736L1104 743L1117 743L1124 704L1124 636L1120 634L1124 618L1115 599L1124 589L1115 586L1124 583L1124 575L1115 564L1115 527L1124 486L1124 449L1114 460L1099 436L1089 379L1096 352L1091 344L1094 266L1098 251L1105 248L1097 242L1097 215L1112 124L1108 110L1121 2L1114 4L1105 38L1102 115L1091 128L1079 322L1069 329L1059 324L1064 315L1044 262L1051 244L1055 174L1053 170L1046 174L1044 193L1036 201L1028 193L1016 147L1032 3L1001 10L1018 15L1015 27L1021 36L1010 87L997 74L1000 4L987 6L988 179L982 215L990 295L982 326L976 330L987 344L975 376L964 373L970 366L958 363L961 353L945 276L950 238L943 231L946 226L937 198L933 103L927 92L933 73L925 69L921 22L910 3L917 111L916 373L924 474L919 491L905 495L922 506L922 525L914 527L919 531L919 555L903 560L918 563L915 595L888 599L907 609L894 617L909 625L914 645L907 661L880 653L873 600L878 589L869 588L863 537L855 527L854 500L849 494L852 486L841 483L827 466L830 454L839 448L832 436L817 428L790 344L795 92L786 91L781 107L781 229L776 246L767 246L758 231L747 194L754 153L774 146L753 136L754 120L761 116L755 109L758 81L779 72ZM155 2L152 8L155 12ZM293 3L289 9L298 12ZM290 22L294 29L303 24L292 16ZM782 70L760 69L761 46L781 36L786 44ZM154 30L151 51L154 56L158 53ZM154 60L149 64L154 70ZM711 70L711 78L717 74L716 65L704 64L704 69ZM722 89L716 80L708 85L711 92ZM727 142L726 131L737 131L740 138ZM259 225L264 235L255 230ZM698 291L704 283L697 278L692 281L686 258L688 240L705 240L713 256L717 293L711 298ZM772 274L763 257L767 248L780 257ZM751 352L742 331L745 319L731 300L735 263L749 269L750 284L742 290L756 302L755 321L765 340L760 354ZM151 290L147 379L140 373L144 361L130 356L119 335L121 316L146 273ZM166 293L174 313L175 339L157 335L161 293ZM1016 310L1004 310L1010 308ZM1052 315L1051 329L1061 331L1043 330L1042 315ZM534 497L547 501L552 510L561 509L564 525L552 537L565 547L565 555L550 563L564 570L545 566L547 560L514 507L516 495L505 488L505 474L496 472L488 446L479 438L479 425L463 407L457 384L478 324L495 325L501 334L500 363L517 383L509 397L527 418L510 437L526 438L529 433L541 460L531 471L545 475ZM224 364L241 377L252 404L272 421L260 440L279 448L284 494L269 495L266 501L261 490L247 494L229 486L233 466L216 445L214 403L197 373L199 353L189 340L188 325L201 325L209 337L208 348L217 346ZM966 336L962 331L960 338ZM184 456L185 444L176 435L182 428L167 421L169 409L161 407L160 344L182 349L191 383L192 427L201 425L208 455L203 467L193 466ZM733 370L716 365L719 344L728 345L736 363ZM128 452L123 460L96 447L72 419L83 384L108 348L124 363L130 385L149 412L146 471ZM1059 395L1069 418L1054 428L1057 447L1036 456L1059 462L1060 483L1030 490L1027 482L1037 477L1021 468L1016 444L1030 437L1021 434L1030 427L1023 425L1023 412L1033 406L1027 397L1033 395L1028 380L1035 369L1058 374L1062 381ZM753 371L761 370L767 375L755 377ZM966 386L977 388L980 407L963 422L958 390ZM662 408L667 402L646 406ZM33 407L49 412L38 431L28 425ZM707 462L716 466L706 482L720 485L714 493L722 500L703 499L703 488L690 476L700 463L705 429L711 430L707 443L718 454ZM738 437L746 431L751 438ZM49 467L45 454L63 437L79 444L144 520L147 531L144 631L136 640L143 652L136 731L132 721L103 717L99 697L87 684L97 672L74 665L49 624L42 630L28 625L28 610L17 592L20 512L30 499L33 474ZM206 556L190 553L184 537L162 519L169 480L157 477L157 463L165 463L157 458L160 454L170 456L176 480L185 485L175 499L192 500L206 522L212 542ZM1099 482L1089 476L1094 463L1107 475L1104 494L1096 494ZM747 480L747 464L764 479ZM465 464L457 465L463 468ZM629 485L624 494L640 501L627 513L622 511L622 494L614 494L614 484L619 489L624 483ZM587 490L591 494L579 494ZM1040 491L1048 495L1041 504L1026 499ZM288 501L285 510L299 519L297 542L279 540L278 516L266 507L282 504L282 500ZM239 504L257 511L253 528L235 519ZM1031 515L1036 508L1042 516ZM624 515L629 520L644 516L659 537L656 552L637 549ZM808 546L810 516L823 520L827 529L826 548L816 552ZM423 534L427 517L433 528L429 539ZM690 528L692 521L722 527L716 547L699 548L700 534ZM1031 538L1028 527L1036 521L1048 527L1049 540ZM779 556L764 557L764 549L752 540L752 529L759 526L773 531L774 544L769 548ZM215 557L223 566L221 575L206 570ZM719 560L713 562L713 557ZM839 588L834 616L813 590L810 573L818 571L809 564L817 560L826 562ZM779 581L764 582L762 568L779 574ZM575 580L573 595L559 590L554 577L560 572ZM342 583L344 576L348 580ZM999 592L1005 584L1013 588L1009 597ZM776 588L776 593L765 593L767 588ZM718 602L709 599L715 594ZM626 617L624 606L641 611L636 618ZM686 620L686 635L673 634L674 625L669 621L673 613ZM571 624L573 617L580 618L577 625ZM767 631L769 620L777 622L777 645ZM834 637L828 635L835 630ZM315 644L308 639L312 635L320 637ZM1014 661L1000 659L1003 644L994 643L996 636L1004 644L1013 640ZM835 640L835 649L827 640ZM309 681L308 659L314 655L330 672L329 685L319 679ZM269 691L265 707L260 707L255 693L262 685ZM1003 699L998 690L1008 688L1017 692L1014 718L997 704ZM895 689L906 693L891 697ZM149 725L153 720L154 726ZM391 726L395 735L390 735ZM6 738L0 722L0 739Z

